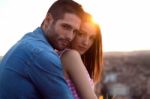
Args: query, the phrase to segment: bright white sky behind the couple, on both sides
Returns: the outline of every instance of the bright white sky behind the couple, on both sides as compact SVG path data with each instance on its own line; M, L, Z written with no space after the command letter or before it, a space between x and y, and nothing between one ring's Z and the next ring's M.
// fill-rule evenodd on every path
M0 56L42 23L55 0L0 0ZM104 51L150 50L149 0L75 0L101 27Z

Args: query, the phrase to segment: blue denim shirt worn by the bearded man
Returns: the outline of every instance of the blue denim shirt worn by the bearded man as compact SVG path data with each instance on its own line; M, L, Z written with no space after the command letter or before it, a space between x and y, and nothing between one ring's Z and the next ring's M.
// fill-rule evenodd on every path
M40 27L27 33L3 57L0 99L73 99L60 58Z

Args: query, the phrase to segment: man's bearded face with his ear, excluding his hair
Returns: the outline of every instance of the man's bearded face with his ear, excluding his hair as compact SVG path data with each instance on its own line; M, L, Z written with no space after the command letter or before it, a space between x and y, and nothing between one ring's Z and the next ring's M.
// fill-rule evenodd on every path
M49 42L57 50L63 50L79 31L81 19L75 14L66 13L62 19L53 20L47 27Z

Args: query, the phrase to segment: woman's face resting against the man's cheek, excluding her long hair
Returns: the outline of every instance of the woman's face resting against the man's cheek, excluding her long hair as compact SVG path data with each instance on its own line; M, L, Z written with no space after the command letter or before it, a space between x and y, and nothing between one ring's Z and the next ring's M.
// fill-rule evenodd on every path
M89 21L83 21L81 23L80 31L72 40L70 47L76 49L83 55L93 45L96 34L97 27L92 20L89 19Z

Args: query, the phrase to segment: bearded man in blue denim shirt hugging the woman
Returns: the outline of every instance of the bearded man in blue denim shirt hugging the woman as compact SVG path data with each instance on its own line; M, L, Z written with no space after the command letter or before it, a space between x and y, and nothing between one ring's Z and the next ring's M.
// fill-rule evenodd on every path
M41 25L3 57L0 99L73 99L59 56L80 28L84 11L72 0L58 0Z

